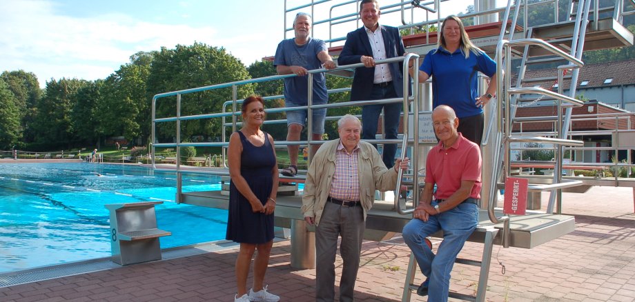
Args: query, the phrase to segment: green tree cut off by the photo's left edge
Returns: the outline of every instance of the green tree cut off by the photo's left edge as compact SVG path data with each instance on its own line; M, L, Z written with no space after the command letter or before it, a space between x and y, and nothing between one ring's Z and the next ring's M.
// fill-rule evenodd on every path
M0 149L9 150L20 138L17 98L0 78Z

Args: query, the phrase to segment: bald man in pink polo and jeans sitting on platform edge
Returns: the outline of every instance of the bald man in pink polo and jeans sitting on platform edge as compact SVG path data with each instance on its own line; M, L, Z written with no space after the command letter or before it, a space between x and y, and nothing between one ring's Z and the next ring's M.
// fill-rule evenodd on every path
M423 193L402 234L427 277L417 294L438 302L447 301L454 261L478 223L481 158L478 145L457 132L452 108L435 108L432 124L440 142L428 154ZM443 242L434 254L425 241L439 230Z

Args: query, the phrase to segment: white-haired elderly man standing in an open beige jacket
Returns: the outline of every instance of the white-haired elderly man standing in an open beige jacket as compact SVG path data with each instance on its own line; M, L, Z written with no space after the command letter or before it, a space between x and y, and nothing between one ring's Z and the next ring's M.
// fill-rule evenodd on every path
M409 159L397 159L386 168L375 147L360 141L362 123L346 114L338 121L340 139L324 143L311 161L304 183L302 213L315 224L315 301L335 299L335 252L342 236L344 261L340 279L340 301L353 301L355 279L367 212L375 201L375 190L394 190L398 168L406 170Z

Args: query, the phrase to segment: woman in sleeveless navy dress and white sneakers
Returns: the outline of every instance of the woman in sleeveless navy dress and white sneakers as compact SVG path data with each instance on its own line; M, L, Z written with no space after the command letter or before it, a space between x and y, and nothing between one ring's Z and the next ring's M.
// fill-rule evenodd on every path
M273 246L273 210L278 183L273 137L260 130L264 117L262 97L248 97L242 103L242 129L229 139L231 182L226 239L240 243L234 301L280 300L263 286ZM247 277L255 250L258 252L253 265L253 288L247 292Z

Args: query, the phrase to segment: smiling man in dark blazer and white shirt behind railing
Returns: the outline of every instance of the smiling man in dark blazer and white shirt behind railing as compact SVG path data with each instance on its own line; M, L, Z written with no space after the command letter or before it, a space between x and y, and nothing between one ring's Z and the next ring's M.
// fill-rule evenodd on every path
M377 0L362 0L360 19L364 26L346 35L338 65L364 63L355 69L351 101L403 97L401 62L378 64L375 61L404 55L404 43L397 28L378 23L380 7ZM402 103L364 105L362 108L362 139L375 139L379 115L384 110L386 139L397 139ZM376 147L376 145L375 145ZM385 144L382 160L387 168L395 162L396 144Z

